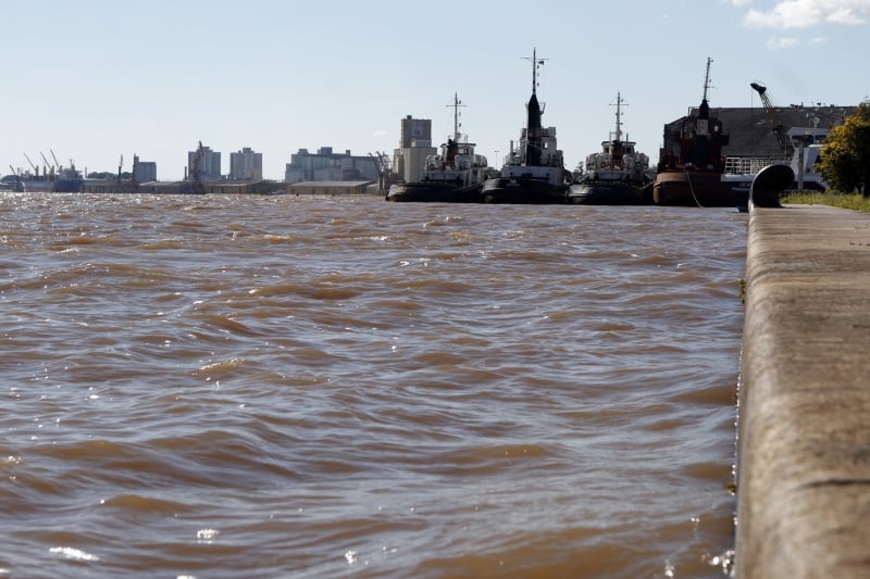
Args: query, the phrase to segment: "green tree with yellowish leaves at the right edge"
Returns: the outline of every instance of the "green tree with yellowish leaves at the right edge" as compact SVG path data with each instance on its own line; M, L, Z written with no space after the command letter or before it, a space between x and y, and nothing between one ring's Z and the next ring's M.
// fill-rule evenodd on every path
M870 196L870 100L831 129L820 156L819 172L832 189Z

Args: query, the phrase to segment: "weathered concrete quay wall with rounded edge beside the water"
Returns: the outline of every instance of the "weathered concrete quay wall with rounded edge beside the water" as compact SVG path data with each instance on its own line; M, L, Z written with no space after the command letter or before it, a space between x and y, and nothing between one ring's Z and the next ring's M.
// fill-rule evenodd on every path
M870 214L753 207L736 577L870 577Z

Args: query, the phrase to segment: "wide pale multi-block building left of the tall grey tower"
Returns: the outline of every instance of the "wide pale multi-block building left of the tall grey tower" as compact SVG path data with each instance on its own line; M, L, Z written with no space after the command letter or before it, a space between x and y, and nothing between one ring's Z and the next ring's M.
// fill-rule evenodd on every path
M332 147L321 147L316 153L299 149L285 165L284 182L377 180L377 162L371 155L352 155L333 152Z

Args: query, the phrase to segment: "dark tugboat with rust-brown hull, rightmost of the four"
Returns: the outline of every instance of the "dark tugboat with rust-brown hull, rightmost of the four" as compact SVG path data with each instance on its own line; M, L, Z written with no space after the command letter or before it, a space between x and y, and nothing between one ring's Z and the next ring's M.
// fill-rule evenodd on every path
M652 186L652 201L657 205L735 205L731 187L722 181L722 147L728 144L729 136L722 134L722 122L707 102L711 62L708 58L700 106L683 118L676 130L664 133Z

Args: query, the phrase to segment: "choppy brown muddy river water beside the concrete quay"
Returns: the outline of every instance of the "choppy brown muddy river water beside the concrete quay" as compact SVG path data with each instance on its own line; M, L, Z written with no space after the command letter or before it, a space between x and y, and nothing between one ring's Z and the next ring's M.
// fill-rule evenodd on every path
M0 577L723 577L746 214L0 197Z

